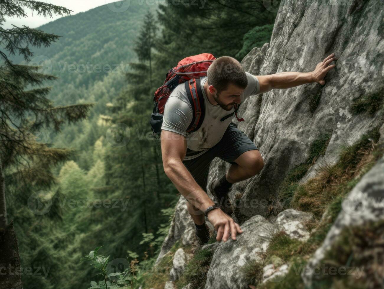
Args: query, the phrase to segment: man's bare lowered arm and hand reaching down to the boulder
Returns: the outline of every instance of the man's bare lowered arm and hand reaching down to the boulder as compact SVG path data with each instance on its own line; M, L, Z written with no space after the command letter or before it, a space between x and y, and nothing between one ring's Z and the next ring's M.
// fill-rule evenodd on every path
M177 190L187 200L203 213L209 206L214 205L208 195L199 186L185 167L183 160L187 151L187 141L184 135L169 130L161 130L161 154L164 172ZM240 226L220 208L209 211L208 220L217 231L216 240L224 242L229 236L236 240L236 235L243 233Z

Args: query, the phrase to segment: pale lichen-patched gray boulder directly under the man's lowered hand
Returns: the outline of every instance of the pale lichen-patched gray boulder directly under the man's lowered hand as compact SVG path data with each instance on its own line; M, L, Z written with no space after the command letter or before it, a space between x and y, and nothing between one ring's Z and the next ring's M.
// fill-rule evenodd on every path
M262 260L274 229L262 216L253 216L242 225L243 233L236 241L221 242L212 257L205 289L248 288L241 267L246 261Z

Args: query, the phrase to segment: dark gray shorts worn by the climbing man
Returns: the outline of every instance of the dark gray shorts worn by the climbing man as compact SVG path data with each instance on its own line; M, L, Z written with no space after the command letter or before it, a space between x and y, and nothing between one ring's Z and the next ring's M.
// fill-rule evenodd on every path
M184 160L183 163L200 187L206 190L209 166L215 157L234 164L234 160L248 150L258 150L258 148L244 132L237 129L236 124L231 122L220 142L199 157Z

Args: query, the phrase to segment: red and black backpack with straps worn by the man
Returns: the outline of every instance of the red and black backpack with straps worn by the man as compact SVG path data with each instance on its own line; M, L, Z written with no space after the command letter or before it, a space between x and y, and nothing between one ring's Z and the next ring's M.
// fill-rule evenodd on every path
M166 105L168 97L174 88L181 83L185 83L185 91L187 91L189 102L194 108L194 115L187 128L187 133L199 129L205 114L204 95L201 91L200 77L207 76L207 70L215 59L216 58L210 53L189 56L180 60L176 67L168 71L164 84L156 90L153 98L154 107L149 123L151 124L153 135L156 138L158 138L161 133L164 106ZM222 121L227 117L233 116L233 114L237 112L237 109L238 106L235 107L235 112L223 117Z

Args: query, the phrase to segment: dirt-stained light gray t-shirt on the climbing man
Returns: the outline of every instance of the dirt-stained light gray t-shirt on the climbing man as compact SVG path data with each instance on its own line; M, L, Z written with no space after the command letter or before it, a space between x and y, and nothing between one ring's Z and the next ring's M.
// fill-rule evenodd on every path
M256 76L248 72L246 74L248 85L240 96L241 102L247 99L248 96L258 94L260 91L259 81ZM224 121L220 121L222 117L233 112L235 108L226 111L219 104L212 105L205 95L204 84L206 81L206 76L200 78L201 89L204 94L205 116L197 131L187 134L187 128L192 121L194 112L185 91L184 83L176 86L164 107L161 129L170 130L186 137L188 150L184 160L194 159L217 144L234 117L233 115Z

